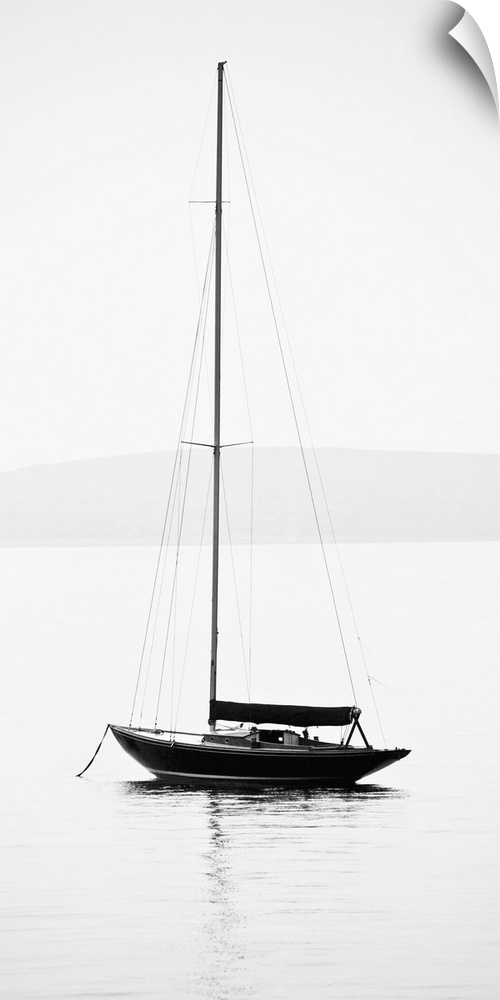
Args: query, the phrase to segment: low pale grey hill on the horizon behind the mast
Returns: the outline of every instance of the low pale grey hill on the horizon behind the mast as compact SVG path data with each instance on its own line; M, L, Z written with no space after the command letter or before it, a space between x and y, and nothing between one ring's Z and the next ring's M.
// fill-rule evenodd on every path
M500 538L500 456L357 451L316 452L338 541L453 541ZM318 515L331 531L312 454ZM172 452L40 465L0 474L0 545L156 545ZM186 459L184 468L187 468ZM197 542L210 513L209 449L194 449L183 539ZM223 453L231 538L249 539L249 448ZM253 538L309 542L317 529L300 453L256 449ZM181 504L178 505L181 516ZM223 503L225 509L225 503ZM224 534L225 531L225 534ZM208 538L209 532L206 531ZM223 529L227 539L227 529Z

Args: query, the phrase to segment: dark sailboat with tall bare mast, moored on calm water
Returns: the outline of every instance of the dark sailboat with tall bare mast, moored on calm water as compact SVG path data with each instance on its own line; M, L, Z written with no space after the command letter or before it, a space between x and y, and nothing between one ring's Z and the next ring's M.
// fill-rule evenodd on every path
M205 786L349 786L401 760L404 749L376 749L356 705L312 706L220 700L217 697L221 493L221 258L224 67L217 69L215 192L215 347L211 655L208 729L201 734L110 724L120 746L163 782ZM224 723L224 725L221 725ZM228 727L228 723L236 726ZM338 742L310 737L311 727L341 727ZM297 731L299 730L299 731ZM360 740L356 744L355 737Z

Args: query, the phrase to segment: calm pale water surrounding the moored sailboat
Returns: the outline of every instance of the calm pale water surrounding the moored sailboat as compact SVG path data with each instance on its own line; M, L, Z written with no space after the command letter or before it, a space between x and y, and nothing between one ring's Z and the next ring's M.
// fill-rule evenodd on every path
M387 741L413 752L352 792L252 795L163 788L109 735L77 780L128 720L155 554L0 552L3 996L498 996L500 545L343 552ZM291 556L261 553L285 559L295 698L323 633Z

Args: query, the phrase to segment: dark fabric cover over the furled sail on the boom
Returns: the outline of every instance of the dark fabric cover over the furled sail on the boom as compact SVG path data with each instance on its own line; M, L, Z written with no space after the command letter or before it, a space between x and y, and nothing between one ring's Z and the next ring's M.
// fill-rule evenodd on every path
M211 701L210 721L274 722L288 726L347 726L352 722L353 709L315 708L310 705L258 705L255 702Z

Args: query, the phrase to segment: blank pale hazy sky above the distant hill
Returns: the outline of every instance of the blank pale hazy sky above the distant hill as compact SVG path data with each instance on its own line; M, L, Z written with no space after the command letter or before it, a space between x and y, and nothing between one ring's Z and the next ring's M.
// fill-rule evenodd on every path
M500 451L500 130L454 9L3 0L0 468L174 443L221 59L315 443ZM250 278L254 430L293 443Z

